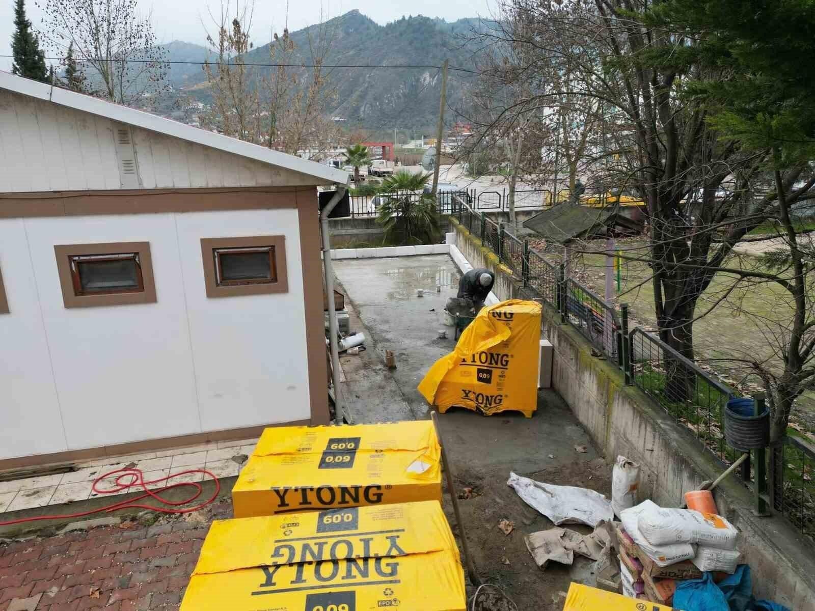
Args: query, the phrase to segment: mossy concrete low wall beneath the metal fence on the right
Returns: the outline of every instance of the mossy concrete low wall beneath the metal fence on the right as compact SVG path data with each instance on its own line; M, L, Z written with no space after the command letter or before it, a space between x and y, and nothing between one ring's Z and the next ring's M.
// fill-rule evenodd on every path
M457 223L452 225L456 246L469 262L496 270L494 291L499 299L533 297L507 268L498 265L480 240ZM559 320L555 310L544 306L542 332L554 346L553 388L570 405L609 463L624 455L641 464L641 499L678 507L685 491L720 475L721 464L687 429L644 393L623 385L616 364L594 357L588 341ZM545 417L545 411L540 415ZM725 480L715 497L719 512L738 527L738 549L742 561L751 565L756 596L794 611L815 611L812 543L804 543L780 516L753 516L751 493L736 477Z

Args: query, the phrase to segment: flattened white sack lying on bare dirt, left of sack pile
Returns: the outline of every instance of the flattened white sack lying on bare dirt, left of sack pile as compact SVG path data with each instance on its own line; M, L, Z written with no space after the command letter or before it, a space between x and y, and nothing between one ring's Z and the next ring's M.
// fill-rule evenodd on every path
M594 528L603 520L614 519L609 500L594 490L553 486L515 473L509 473L507 486L556 525L585 524Z

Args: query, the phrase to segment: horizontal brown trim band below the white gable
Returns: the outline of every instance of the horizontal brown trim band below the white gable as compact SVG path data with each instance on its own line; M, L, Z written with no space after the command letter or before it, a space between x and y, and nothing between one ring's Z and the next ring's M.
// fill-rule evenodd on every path
M182 189L177 191L96 191L46 197L0 196L0 218L61 217L96 214L146 214L297 208L297 195L314 197L317 190L271 187L236 189ZM30 194L29 194L30 195Z

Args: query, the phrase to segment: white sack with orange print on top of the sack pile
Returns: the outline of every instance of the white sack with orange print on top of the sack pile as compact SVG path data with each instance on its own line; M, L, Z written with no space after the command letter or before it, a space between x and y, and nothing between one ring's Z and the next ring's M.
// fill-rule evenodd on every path
M646 508L637 519L640 533L653 545L699 543L735 549L738 530L722 516L693 509Z

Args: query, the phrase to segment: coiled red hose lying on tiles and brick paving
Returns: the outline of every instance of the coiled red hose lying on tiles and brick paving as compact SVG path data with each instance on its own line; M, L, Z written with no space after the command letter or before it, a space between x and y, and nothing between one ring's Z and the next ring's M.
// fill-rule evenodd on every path
M110 477L119 473L116 477L116 480L113 482L115 487L111 490L99 490L96 486L99 485L99 481L104 480L106 477ZM199 481L178 481L175 484L169 484L167 486L162 487L159 490L148 490L148 486L152 484L158 484L162 481L169 481L173 477L181 477L182 475L186 475L187 473L204 473L205 475L209 475L212 477L213 481L215 482L215 491L212 493L212 496L205 501L198 503L195 507L190 507L186 509L176 509L179 505L186 505L187 503L192 503L192 501L196 500L201 492L204 490L201 486ZM125 477L130 477L129 481L123 480ZM190 496L188 499L183 499L180 501L171 501L169 499L163 498L159 493L164 492L165 490L171 490L172 488L178 488L179 486L193 486L195 490L195 494ZM94 513L102 513L102 512L113 512L117 509L130 509L130 508L141 508L141 509L151 509L154 512L160 513L190 513L196 512L200 508L204 508L209 503L212 503L217 497L218 492L221 491L221 482L218 481L218 477L215 477L212 473L207 471L206 469L189 469L187 471L182 471L180 473L173 473L172 475L168 475L167 477L159 477L156 480L152 481L144 481L144 473L139 468L120 468L116 469L115 471L111 471L109 473L105 473L104 475L100 475L94 480L93 491L98 495L116 495L120 493L124 493L130 488L141 488L144 490L143 495L139 495L134 499L126 499L123 501L119 501L118 503L113 503L112 505L107 505L105 507L100 507L98 509L91 509L88 512L77 512L77 513L64 513L59 516L33 516L33 517L21 517L18 520L10 520L7 522L0 522L0 526L8 526L12 524L22 524L24 522L34 522L38 520L65 520L74 517L83 517L83 516L90 516ZM158 503L161 503L157 507L153 507L152 505L145 505L142 503L137 503L141 499L146 498L155 499ZM162 507L162 505L164 505ZM169 506L169 507L168 507Z

